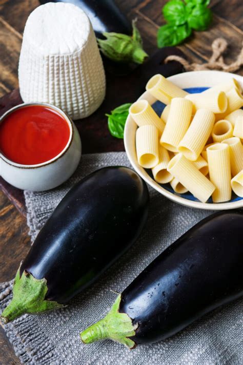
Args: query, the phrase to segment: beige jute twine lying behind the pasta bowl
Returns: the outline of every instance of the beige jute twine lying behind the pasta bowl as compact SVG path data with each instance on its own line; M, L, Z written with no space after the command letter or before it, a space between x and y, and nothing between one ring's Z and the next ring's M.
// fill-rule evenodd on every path
M183 57L171 55L166 57L165 63L170 61L178 61L181 65L184 66L186 71L198 71L198 70L224 70L226 72L234 72L237 71L243 65L243 48L235 62L232 62L230 65L225 64L224 57L222 54L225 52L228 46L227 41L224 38L217 38L212 43L212 56L208 63L198 64L198 63L189 63Z

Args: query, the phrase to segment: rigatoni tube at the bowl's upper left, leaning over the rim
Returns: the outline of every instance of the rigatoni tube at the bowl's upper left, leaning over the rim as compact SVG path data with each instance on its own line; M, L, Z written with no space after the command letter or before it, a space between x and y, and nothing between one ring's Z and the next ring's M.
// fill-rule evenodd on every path
M160 74L154 75L148 81L146 90L164 104L170 104L173 98L185 98L188 94Z

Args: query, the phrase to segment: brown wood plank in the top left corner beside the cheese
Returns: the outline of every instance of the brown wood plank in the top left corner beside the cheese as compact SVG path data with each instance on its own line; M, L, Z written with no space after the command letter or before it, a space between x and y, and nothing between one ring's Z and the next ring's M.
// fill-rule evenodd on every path
M38 0L0 0L0 14L21 35L29 14L37 6Z

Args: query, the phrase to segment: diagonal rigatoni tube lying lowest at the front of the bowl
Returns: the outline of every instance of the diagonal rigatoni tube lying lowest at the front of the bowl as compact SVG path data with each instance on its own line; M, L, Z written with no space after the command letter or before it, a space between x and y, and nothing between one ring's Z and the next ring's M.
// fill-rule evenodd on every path
M215 186L182 153L170 160L167 170L201 202L205 203L215 190Z

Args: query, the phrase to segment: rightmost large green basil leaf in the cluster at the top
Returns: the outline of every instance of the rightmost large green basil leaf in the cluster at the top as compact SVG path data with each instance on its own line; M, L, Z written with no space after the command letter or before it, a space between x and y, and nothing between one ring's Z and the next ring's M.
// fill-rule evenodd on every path
M197 5L188 16L188 24L195 30L206 30L212 22L212 11L205 5Z

